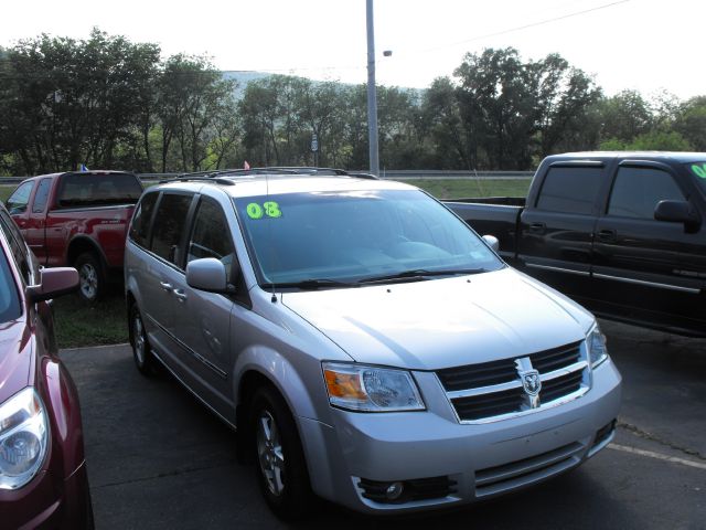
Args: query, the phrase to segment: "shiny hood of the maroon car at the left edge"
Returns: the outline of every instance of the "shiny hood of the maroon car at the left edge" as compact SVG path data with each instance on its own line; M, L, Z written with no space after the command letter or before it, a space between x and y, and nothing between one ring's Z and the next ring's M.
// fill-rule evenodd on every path
M0 403L29 384L32 341L24 320L0 324Z

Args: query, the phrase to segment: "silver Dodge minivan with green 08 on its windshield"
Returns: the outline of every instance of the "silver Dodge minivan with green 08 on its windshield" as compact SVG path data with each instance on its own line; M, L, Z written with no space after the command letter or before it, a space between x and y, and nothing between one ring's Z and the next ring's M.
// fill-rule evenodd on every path
M588 311L411 186L257 169L149 188L125 276L145 374L237 430L270 508L454 507L573 469L621 378Z

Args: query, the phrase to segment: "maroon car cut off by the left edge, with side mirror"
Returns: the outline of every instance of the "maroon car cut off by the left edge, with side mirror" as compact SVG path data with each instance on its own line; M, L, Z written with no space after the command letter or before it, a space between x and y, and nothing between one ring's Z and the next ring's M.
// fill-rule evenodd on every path
M0 528L93 528L78 394L45 300L75 268L43 268L0 206Z

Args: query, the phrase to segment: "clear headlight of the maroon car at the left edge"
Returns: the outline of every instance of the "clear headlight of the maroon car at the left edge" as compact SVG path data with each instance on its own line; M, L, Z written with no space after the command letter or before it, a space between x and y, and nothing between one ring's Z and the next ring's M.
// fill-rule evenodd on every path
M19 489L42 467L49 423L44 405L26 388L0 405L0 489Z

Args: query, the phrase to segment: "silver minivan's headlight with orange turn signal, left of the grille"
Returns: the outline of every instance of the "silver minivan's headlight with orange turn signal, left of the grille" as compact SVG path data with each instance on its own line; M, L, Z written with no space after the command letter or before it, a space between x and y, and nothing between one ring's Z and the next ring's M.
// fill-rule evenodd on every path
M324 362L329 402L361 412L422 411L424 401L406 370Z

